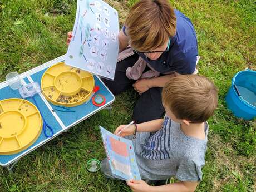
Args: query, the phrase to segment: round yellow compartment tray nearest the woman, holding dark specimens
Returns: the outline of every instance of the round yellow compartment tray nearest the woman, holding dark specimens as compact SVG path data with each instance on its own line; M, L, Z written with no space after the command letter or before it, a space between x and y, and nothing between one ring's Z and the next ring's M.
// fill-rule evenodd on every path
M52 104L73 107L90 99L95 85L93 75L89 72L57 63L42 76L43 95Z

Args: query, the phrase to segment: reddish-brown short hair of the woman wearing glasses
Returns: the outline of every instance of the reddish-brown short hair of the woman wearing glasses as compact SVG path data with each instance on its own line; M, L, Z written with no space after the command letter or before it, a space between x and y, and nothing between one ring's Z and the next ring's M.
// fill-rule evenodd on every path
M141 0L131 7L125 26L135 50L152 51L175 35L176 16L168 0Z

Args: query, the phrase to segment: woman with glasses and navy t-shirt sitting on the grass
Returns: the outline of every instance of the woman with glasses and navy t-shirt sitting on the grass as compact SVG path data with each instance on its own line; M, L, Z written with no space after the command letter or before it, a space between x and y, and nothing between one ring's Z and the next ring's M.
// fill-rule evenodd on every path
M119 32L119 52L114 81L103 81L114 95L132 87L139 93L133 114L138 123L163 117L162 87L177 73L196 73L199 60L193 24L168 0L131 7Z

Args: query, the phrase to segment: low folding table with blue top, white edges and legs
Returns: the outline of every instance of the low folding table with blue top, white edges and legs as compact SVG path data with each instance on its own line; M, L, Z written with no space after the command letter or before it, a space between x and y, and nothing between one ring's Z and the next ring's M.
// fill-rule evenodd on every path
M47 68L54 65L55 63L63 62L64 59L65 55L55 58L52 61L49 61L43 65L33 68L32 70L22 73L20 75L22 84L24 85L31 82L41 83L41 77L43 73L47 70ZM54 134L51 138L47 138L43 134L42 130L38 139L27 149L13 155L0 155L0 165L7 167L8 170L12 173L13 166L17 163L19 159L21 159L21 157L29 154L29 152L37 149L37 147L46 144L46 142L52 140L57 135L60 135L62 132L67 131L68 129L70 129L70 127L75 126L76 124L87 119L96 112L104 108L111 109L111 104L115 100L114 95L109 91L109 89L104 85L104 83L98 76L94 76L94 79L95 85L98 85L100 87L100 90L97 93L104 95L106 98L106 103L101 107L93 105L90 101L87 104L84 103L76 107L71 107L70 109L75 112L72 112L72 114L70 114L70 112L55 110L56 106L48 102L42 93L34 96L38 108L42 112L42 115L46 122L50 124L53 128ZM8 86L7 82L2 82L0 83L0 100L8 98L21 98L21 96L19 95L18 90L12 90ZM28 98L28 101L34 103L32 99Z

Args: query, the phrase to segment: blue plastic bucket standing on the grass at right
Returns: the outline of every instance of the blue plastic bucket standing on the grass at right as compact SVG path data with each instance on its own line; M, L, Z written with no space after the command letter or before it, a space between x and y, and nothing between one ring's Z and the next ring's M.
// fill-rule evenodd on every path
M233 77L226 102L236 117L245 120L256 117L256 71L240 71Z

